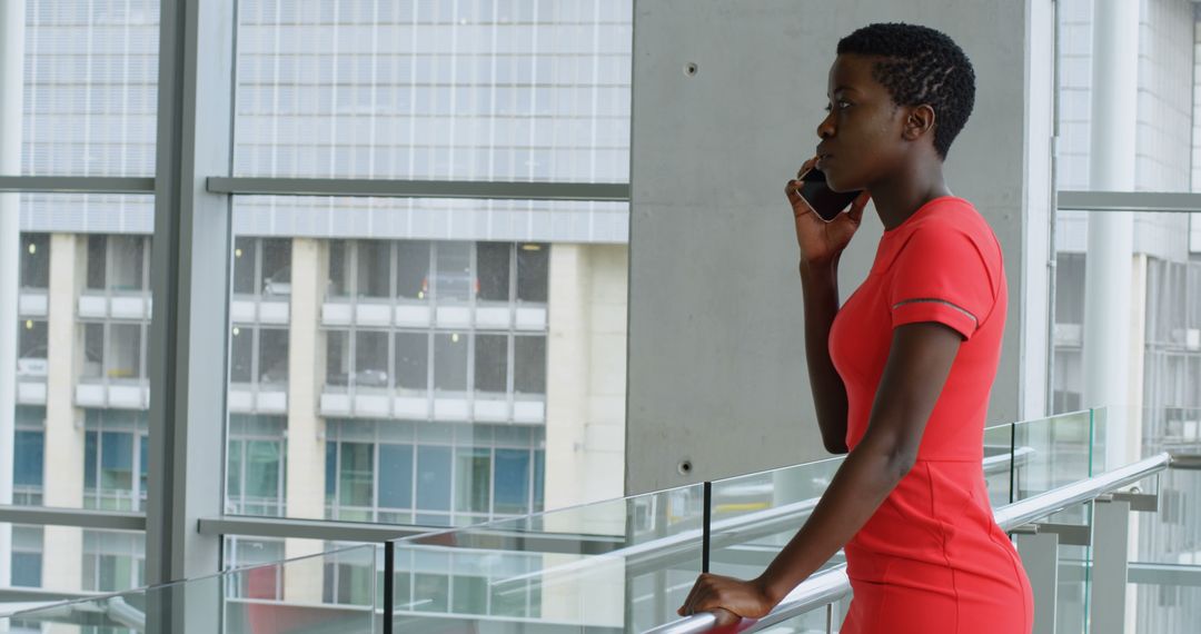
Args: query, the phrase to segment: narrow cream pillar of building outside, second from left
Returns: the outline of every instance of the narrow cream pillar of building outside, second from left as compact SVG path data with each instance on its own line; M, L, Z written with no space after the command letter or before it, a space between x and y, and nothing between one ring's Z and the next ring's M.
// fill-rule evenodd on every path
M325 297L328 251L321 240L292 240L292 299L288 330L287 516L319 520L325 514L325 424L318 414L325 342L318 330ZM287 539L287 558L316 555L321 542ZM291 563L283 572L287 600L321 600L321 560Z

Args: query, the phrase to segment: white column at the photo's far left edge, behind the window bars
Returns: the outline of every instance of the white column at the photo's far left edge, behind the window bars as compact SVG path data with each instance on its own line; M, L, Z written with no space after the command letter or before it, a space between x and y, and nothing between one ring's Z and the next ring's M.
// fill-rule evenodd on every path
M20 173L20 120L25 88L25 2L0 5L0 174ZM0 193L0 504L12 504L17 413L17 287L20 225L17 195ZM0 524L0 585L11 579L12 525Z

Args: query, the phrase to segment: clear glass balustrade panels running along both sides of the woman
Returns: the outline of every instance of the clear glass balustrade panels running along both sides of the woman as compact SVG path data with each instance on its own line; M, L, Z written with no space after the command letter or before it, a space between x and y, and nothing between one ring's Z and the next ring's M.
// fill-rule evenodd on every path
M1189 415L1171 423L1182 430L1177 436L1183 439L1173 441L1177 449L1194 430ZM1044 504L1082 482L1129 468L1128 462L1106 471L1098 456L1103 425L1115 419L1111 412L1094 411L986 429L982 471L993 508L1004 513ZM166 610L172 618L187 618L187 632L205 633L540 634L676 627L681 621L675 610L706 564L717 574L759 574L803 525L841 463L821 460L426 533L382 548L349 548L138 592L28 605L0 626L8 632L43 632L50 623L54 632L173 632L159 616ZM1194 584L1201 580L1201 472L1165 473L1159 484L1154 478L1122 480L1123 488L1136 483L1136 492L1158 496L1123 494L1137 498L1133 508L1141 507L1129 522L1130 543L1142 546L1131 552L1137 556L1130 558L1128 596L1134 598L1128 614L1140 633L1183 634L1201 622L1201 582ZM1146 512L1148 500L1158 513ZM1051 557L1040 562L1044 572L1053 562L1056 590L1036 602L1053 598L1059 632L1101 632L1092 626L1095 506L1051 506L1014 527L1021 533L1020 548L1035 533L1058 536ZM760 629L837 630L850 598L843 568L842 555L832 557L799 588L817 588L809 597L819 599L794 603L805 609L765 621Z

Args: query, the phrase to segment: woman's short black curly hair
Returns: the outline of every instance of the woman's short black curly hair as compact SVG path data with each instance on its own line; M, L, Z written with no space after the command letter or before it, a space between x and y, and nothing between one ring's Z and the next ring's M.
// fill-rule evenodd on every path
M934 109L934 150L946 160L975 103L975 71L963 49L940 31L903 23L870 24L838 41L838 54L883 58L872 77L897 106Z

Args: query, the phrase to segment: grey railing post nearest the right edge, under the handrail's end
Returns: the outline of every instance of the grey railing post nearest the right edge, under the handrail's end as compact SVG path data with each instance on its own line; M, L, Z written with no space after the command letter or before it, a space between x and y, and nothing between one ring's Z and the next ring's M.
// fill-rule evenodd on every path
M1125 629L1125 592L1130 502L1098 498L1093 504L1093 574L1089 623L1093 634L1122 634Z

